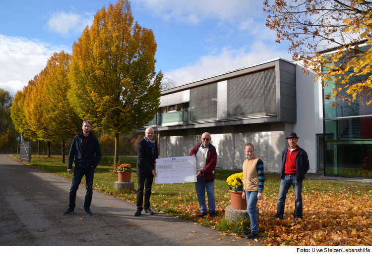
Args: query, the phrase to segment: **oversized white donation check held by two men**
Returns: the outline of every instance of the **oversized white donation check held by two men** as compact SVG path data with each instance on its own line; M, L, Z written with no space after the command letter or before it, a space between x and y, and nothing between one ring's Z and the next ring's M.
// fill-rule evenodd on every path
M157 158L155 183L196 182L195 156Z

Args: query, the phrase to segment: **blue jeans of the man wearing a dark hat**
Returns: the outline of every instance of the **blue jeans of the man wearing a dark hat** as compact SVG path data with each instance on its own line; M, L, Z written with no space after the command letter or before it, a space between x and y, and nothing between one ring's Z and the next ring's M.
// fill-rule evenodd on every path
M278 196L278 210L275 217L283 219L285 202L287 198L287 193L289 188L293 186L295 190L295 212L293 214L294 218L302 218L302 181L297 182L296 174L284 175L284 179L280 181L279 196Z

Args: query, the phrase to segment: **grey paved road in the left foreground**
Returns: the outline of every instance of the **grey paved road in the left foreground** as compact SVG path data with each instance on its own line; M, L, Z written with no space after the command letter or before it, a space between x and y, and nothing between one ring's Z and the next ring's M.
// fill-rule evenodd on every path
M77 192L75 213L63 216L70 185L67 179L0 155L0 246L245 246L248 242L156 211L135 217L134 204L95 191L93 215L88 216L83 210L84 186Z

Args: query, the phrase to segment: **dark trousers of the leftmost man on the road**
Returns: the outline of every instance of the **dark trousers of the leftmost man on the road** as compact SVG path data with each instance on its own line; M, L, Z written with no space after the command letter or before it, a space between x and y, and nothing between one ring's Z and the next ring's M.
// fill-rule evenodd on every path
M85 175L85 188L86 188L86 194L85 194L85 201L84 201L84 208L90 208L90 204L92 203L92 196L93 196L93 177L94 177L94 168L89 167L87 170L79 170L76 169L73 172L72 176L72 184L70 189L70 203L68 204L69 208L74 209L76 204L76 191L79 189L79 184L81 182L81 179Z

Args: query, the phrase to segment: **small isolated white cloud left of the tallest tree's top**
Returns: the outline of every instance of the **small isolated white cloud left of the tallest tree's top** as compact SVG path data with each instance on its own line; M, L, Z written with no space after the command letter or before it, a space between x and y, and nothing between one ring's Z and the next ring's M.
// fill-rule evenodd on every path
M93 23L93 18L90 13L85 13L85 17L73 12L54 13L48 21L48 28L52 32L67 37L71 33L81 33L87 25Z

